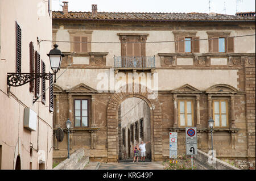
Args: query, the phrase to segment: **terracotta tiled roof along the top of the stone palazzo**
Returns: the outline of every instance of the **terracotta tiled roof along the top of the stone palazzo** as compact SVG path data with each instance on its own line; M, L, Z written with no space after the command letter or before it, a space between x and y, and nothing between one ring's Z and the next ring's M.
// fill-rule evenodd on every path
M52 11L53 19L96 19L96 20L254 20L255 16L235 16L225 14L207 14L207 13L156 13L156 12L98 12L95 17L92 12L72 12L63 14L62 11Z

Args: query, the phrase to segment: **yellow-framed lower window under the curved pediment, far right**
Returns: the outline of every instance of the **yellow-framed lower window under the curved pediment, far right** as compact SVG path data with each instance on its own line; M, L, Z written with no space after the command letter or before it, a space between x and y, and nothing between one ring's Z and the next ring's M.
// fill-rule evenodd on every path
M228 101L213 100L214 127L228 126Z

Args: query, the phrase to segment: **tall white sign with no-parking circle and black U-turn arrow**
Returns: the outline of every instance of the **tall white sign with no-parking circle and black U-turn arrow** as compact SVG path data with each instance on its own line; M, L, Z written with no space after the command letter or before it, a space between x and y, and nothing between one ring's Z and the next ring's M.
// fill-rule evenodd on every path
M187 155L197 154L196 128L186 128L185 134Z

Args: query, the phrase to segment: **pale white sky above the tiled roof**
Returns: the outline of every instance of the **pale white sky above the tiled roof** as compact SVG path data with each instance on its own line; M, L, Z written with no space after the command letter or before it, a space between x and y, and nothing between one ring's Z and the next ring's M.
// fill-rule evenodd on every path
M62 11L64 0L52 0L52 11ZM69 11L98 12L205 12L209 13L209 0L65 0ZM226 13L224 11L224 2ZM255 11L255 0L210 0L210 12L235 15L238 12Z

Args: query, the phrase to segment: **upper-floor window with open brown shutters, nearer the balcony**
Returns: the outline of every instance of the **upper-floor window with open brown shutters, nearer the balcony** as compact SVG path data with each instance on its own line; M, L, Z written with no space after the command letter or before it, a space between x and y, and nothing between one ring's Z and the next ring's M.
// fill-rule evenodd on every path
M199 53L200 41L196 32L174 31L176 53Z

